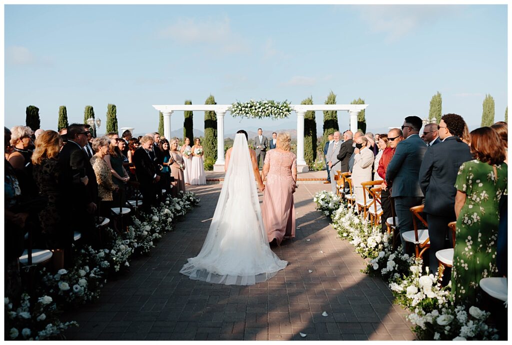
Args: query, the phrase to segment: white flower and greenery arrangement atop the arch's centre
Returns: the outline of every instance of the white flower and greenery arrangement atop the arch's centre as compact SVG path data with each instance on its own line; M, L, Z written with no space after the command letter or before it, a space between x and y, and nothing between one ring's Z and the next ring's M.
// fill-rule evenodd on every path
M287 118L291 114L290 102L275 102L274 100L249 100L249 102L235 102L231 105L231 115L234 117L266 118L272 119Z

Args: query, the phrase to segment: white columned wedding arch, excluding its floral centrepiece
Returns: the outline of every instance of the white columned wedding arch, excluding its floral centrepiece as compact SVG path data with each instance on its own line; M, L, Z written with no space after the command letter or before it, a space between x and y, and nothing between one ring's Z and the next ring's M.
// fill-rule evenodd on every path
M357 115L361 110L366 109L368 104L313 104L290 105L297 114L297 171L308 171L308 165L304 160L304 115L307 111L336 110L348 111L350 114L350 130L357 131ZM175 111L215 111L217 114L217 161L214 165L214 171L224 171L224 115L231 109L230 104L225 105L154 105L158 111L163 114L163 130L166 138L170 137L170 115Z

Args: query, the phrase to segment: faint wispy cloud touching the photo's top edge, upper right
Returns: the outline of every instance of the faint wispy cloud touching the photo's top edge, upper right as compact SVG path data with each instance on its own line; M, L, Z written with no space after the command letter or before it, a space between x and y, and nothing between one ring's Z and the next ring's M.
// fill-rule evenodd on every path
M433 24L452 12L454 7L436 5L367 5L354 6L374 32L386 34L391 43L412 33L424 24Z

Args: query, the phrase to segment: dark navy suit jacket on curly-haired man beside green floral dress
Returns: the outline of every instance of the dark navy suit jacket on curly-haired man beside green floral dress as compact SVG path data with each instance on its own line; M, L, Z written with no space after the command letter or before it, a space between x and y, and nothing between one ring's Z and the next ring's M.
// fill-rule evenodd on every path
M429 214L455 218L455 180L462 163L472 160L470 147L451 136L426 150L419 170L419 184Z

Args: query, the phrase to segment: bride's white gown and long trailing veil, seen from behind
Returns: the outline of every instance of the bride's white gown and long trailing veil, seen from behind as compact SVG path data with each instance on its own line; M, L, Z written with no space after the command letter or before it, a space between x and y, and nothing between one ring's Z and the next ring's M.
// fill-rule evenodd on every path
M214 217L198 256L180 273L225 285L254 285L288 264L271 250L263 226L247 134L234 138Z

